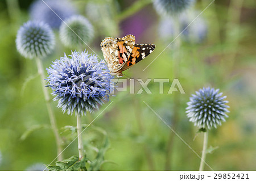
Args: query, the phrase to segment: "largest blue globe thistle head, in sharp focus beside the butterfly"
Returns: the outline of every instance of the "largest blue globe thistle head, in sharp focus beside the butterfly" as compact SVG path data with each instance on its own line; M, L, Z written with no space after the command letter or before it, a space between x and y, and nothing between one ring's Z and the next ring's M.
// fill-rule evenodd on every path
M113 78L104 61L87 52L72 52L53 62L48 71L48 87L52 89L53 100L63 112L79 115L93 112L108 101L113 90Z

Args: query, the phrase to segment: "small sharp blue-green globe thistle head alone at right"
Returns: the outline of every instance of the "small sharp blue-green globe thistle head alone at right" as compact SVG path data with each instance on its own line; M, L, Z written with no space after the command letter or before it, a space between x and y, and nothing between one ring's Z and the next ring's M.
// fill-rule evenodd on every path
M189 121L193 122L200 129L217 128L221 125L221 121L225 122L226 112L229 112L226 106L226 96L222 96L222 92L218 93L218 89L210 89L210 87L196 91L196 95L192 94L188 107L186 108Z

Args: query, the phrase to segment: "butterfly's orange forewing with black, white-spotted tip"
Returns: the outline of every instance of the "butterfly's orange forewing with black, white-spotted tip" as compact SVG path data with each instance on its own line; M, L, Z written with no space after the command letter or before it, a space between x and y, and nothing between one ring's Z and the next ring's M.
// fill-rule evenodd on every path
M139 61L144 59L148 54L150 54L155 49L154 44L135 44L129 60L126 61L126 64L122 66L120 71L129 69L131 66L137 64Z

